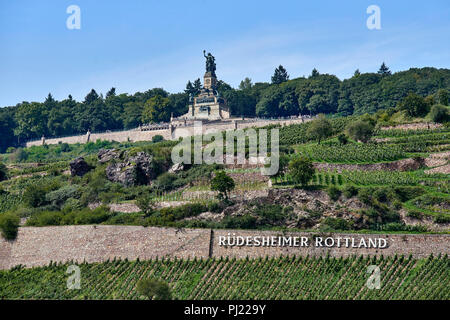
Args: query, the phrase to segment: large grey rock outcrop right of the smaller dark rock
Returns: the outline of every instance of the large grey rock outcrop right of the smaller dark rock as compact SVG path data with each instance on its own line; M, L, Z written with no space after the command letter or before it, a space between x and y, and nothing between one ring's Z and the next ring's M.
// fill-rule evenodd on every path
M110 164L106 168L106 177L126 187L149 184L156 176L151 167L152 160L152 156L139 152L124 162Z

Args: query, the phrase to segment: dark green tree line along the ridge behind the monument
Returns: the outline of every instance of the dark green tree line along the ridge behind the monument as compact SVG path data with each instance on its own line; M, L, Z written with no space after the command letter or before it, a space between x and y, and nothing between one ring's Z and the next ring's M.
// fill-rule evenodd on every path
M0 108L0 152L30 139L84 134L90 131L131 129L142 123L169 121L187 112L189 94L201 89L200 79L189 81L181 93L154 88L133 95L116 94L111 88L103 97L92 89L79 102L57 101L48 94L44 102L21 102ZM271 82L253 83L245 78L238 88L219 81L218 93L236 116L287 117L299 114L364 114L393 108L413 93L421 97L450 89L450 70L413 68L391 74L383 63L378 72L360 73L341 81L313 69L306 77L289 79L283 66ZM431 98L430 98L431 99ZM408 106L406 106L408 108Z

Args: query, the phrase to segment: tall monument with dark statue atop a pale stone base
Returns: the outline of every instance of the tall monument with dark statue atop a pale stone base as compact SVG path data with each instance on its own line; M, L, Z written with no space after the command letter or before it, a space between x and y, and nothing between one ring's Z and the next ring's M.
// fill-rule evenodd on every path
M211 53L206 54L206 72L203 76L203 87L196 96L189 97L189 111L180 118L189 120L221 120L230 118L225 100L217 92L216 62Z

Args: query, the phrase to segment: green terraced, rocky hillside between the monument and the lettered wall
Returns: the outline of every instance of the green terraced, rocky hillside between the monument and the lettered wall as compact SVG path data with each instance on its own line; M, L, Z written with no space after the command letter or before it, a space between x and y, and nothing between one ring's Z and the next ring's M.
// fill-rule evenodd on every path
M400 113L275 126L280 163L311 159L306 185L287 166L270 179L255 165L173 166L175 141L17 149L2 156L0 216L26 226L448 232L448 125L396 125ZM320 123L330 126L322 141L311 131ZM352 139L355 123L372 128L368 141ZM229 201L211 187L222 170L235 185Z

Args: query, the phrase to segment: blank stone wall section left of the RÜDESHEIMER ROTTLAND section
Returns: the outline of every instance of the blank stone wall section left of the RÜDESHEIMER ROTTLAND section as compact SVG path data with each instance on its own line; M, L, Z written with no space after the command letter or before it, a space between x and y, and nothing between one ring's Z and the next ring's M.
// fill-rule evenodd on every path
M24 227L13 242L0 240L0 269L50 261L208 257L210 230L139 226Z

